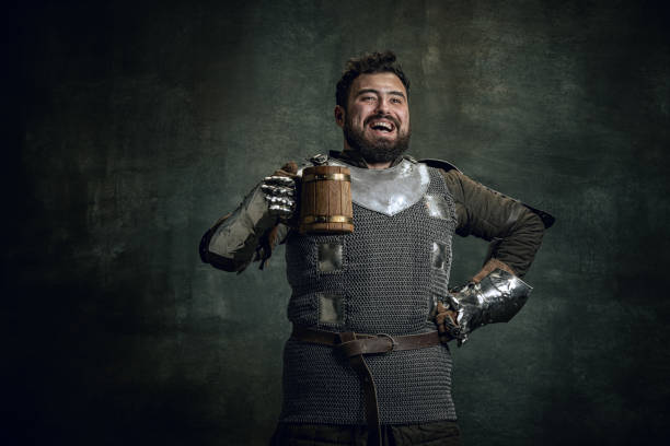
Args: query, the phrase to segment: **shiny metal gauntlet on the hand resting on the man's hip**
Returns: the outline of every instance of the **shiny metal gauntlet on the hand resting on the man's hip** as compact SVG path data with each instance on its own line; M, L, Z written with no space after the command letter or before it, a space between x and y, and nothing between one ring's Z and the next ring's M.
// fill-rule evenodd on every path
M448 326L449 334L459 345L476 328L509 321L525 304L532 287L518 277L501 269L492 271L481 282L471 282L448 296L457 312L457 325Z

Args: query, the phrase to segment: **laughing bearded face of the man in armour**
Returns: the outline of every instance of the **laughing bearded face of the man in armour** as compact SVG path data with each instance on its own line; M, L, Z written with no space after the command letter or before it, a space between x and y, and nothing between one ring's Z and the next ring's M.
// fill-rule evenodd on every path
M348 145L368 163L393 161L407 150L412 134L407 91L393 73L356 78L347 109L336 107L335 117Z

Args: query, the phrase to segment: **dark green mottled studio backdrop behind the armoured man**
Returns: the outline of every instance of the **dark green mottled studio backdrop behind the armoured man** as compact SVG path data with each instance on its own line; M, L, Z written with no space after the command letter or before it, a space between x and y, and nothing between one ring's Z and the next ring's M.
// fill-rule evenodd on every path
M13 441L3 444L265 442L289 331L284 247L265 271L235 275L200 263L199 237L285 161L342 146L334 84L348 57L385 48L412 80L415 156L450 160L557 219L527 277L528 305L454 349L466 445L660 443L670 422L661 4L13 10L4 42L18 79L4 86L16 106L5 111L20 149L4 159L0 360L1 432ZM485 250L457 240L454 284Z

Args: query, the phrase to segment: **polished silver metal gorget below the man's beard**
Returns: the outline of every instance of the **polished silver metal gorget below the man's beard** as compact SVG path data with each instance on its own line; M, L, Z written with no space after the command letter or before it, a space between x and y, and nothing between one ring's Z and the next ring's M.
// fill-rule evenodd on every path
M428 167L407 160L383 169L355 167L333 159L328 164L351 171L351 201L389 216L419 201L430 184Z

